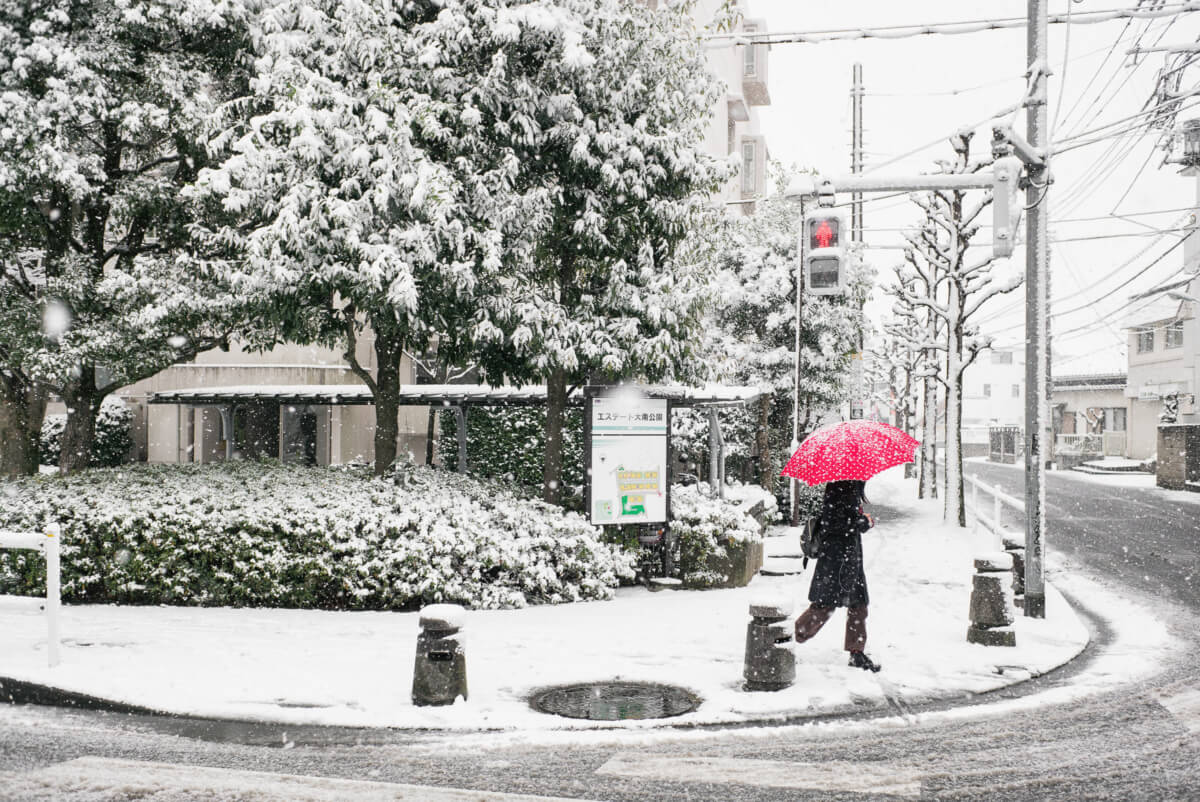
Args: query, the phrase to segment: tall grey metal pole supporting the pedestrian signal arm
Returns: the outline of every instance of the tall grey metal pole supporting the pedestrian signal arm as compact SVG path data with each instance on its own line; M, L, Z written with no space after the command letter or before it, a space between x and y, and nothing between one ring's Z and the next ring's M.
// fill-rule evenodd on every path
M1025 615L1045 618L1045 454L1050 423L1049 263L1050 166L1046 157L1046 4L1028 0L1027 62L1032 82L1027 140L1040 162L1028 163L1025 229Z

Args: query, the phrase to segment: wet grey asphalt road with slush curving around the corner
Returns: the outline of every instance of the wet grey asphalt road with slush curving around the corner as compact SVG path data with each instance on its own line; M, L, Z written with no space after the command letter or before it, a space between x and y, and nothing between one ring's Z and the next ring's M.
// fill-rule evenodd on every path
M1013 468L972 471L1019 486ZM539 740L208 728L5 706L0 772L13 773L0 774L0 800L1200 800L1200 507L1055 475L1048 490L1054 571L1104 581L1175 635L1178 648L1148 680L1110 677L1109 690L1063 704L1073 683L1103 674L1114 646L1094 620L1084 657L1024 688L964 707L780 728ZM878 677L887 682L886 669Z

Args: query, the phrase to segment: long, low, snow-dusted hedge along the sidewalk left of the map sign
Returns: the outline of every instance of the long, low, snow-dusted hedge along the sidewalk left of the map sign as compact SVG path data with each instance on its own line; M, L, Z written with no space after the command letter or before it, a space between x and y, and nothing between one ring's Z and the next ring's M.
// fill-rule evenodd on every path
M49 520L65 527L67 602L518 608L606 599L632 574L578 515L427 468L137 465L0 483L0 527ZM38 593L43 571L0 552L0 593Z

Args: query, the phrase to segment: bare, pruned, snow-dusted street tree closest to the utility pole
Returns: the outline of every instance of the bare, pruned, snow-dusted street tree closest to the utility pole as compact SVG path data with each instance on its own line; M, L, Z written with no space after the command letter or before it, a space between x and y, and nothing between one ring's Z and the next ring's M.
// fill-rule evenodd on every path
M971 133L952 137L954 158L940 163L943 173L968 173L989 164L972 161ZM906 235L908 247L905 259L910 270L902 271L896 292L904 305L923 307L932 324L942 328L944 340L936 343L944 354L942 383L946 388L946 517L966 526L962 496L962 375L990 337L979 334L971 318L992 298L1013 292L1021 286L1019 273L1004 275L996 269L995 257L988 251L971 253L972 238L979 232L979 215L991 203L990 193L968 202L964 191L914 193L913 202L925 217L922 226ZM919 289L918 289L919 287ZM936 334L935 334L936 336ZM925 345L930 345L929 341ZM929 388L926 387L926 436L929 419Z

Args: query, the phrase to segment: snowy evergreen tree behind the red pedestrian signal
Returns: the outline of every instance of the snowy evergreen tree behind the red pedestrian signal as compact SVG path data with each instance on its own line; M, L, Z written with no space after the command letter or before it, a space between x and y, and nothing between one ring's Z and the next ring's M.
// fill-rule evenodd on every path
M791 175L772 164L775 186ZM799 209L773 197L754 215L726 217L708 235L718 273L704 327L706 361L716 381L746 384L770 394L766 407L733 415L743 442L758 443L758 479L782 495L779 471L791 455L796 399L796 280ZM848 252L846 295L806 294L800 330L800 438L820 425L822 413L850 397L852 354L862 331L870 270L857 250Z

